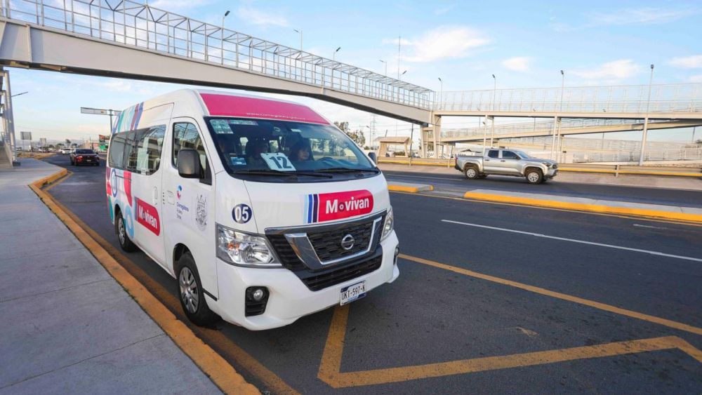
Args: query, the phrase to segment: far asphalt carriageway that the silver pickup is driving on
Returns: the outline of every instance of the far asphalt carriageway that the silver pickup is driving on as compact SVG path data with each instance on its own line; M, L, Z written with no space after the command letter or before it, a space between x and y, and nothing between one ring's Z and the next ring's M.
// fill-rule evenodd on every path
M632 203L663 204L666 206L702 207L702 191L685 189L581 184L559 181L558 176L540 185L530 185L524 178L498 175L490 175L482 180L466 180L463 173L458 170L455 171L455 174L428 174L388 170L383 170L383 173L385 173L385 178L388 178L388 180L431 184L437 189L456 192L466 192L470 189L493 189L495 191L577 196Z

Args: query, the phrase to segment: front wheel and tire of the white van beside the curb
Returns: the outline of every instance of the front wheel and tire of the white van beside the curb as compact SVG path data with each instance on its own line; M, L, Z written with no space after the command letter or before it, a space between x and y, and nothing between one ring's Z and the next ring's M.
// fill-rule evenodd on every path
M211 326L218 321L219 316L207 305L200 275L190 251L180 256L176 263L176 270L178 300L187 319L197 326Z

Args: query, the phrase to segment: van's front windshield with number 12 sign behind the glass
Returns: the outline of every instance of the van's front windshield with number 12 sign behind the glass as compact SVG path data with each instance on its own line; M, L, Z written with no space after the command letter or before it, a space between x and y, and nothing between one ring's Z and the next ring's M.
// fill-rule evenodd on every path
M206 121L230 174L331 178L331 173L379 173L355 142L331 125L213 117Z

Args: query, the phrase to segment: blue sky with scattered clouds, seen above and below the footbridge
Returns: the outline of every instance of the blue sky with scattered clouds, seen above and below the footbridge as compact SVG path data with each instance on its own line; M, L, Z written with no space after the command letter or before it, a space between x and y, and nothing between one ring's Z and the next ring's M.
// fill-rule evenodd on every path
M388 74L397 74L397 37L403 79L444 91L648 83L702 83L702 3L699 1L213 1L156 0L152 6L263 39ZM106 133L102 116L79 107L121 109L180 88L173 84L11 69L17 130L34 138L96 138ZM309 98L311 105L352 127L371 116ZM379 133L394 135L396 121L378 116ZM465 119L446 125L468 125ZM472 126L474 121L470 121ZM398 134L409 135L399 123ZM702 134L702 133L700 133ZM612 138L615 138L613 133ZM635 138L623 133L616 138ZM689 130L652 132L653 140L689 140Z

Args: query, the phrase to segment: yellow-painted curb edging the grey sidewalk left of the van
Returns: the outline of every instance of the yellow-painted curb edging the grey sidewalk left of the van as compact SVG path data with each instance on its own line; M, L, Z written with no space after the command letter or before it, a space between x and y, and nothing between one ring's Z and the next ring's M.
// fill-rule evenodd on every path
M100 265L117 280L124 290L131 295L140 307L171 337L180 349L205 373L225 394L260 394L252 384L244 380L237 370L217 354L211 347L202 342L183 321L179 321L164 304L152 295L144 286L114 260L107 250L102 248L83 228L81 228L67 213L65 213L53 197L44 192L41 187L58 180L67 173L62 169L49 177L34 182L29 187L39 196L41 201L55 213L61 222L83 243Z

